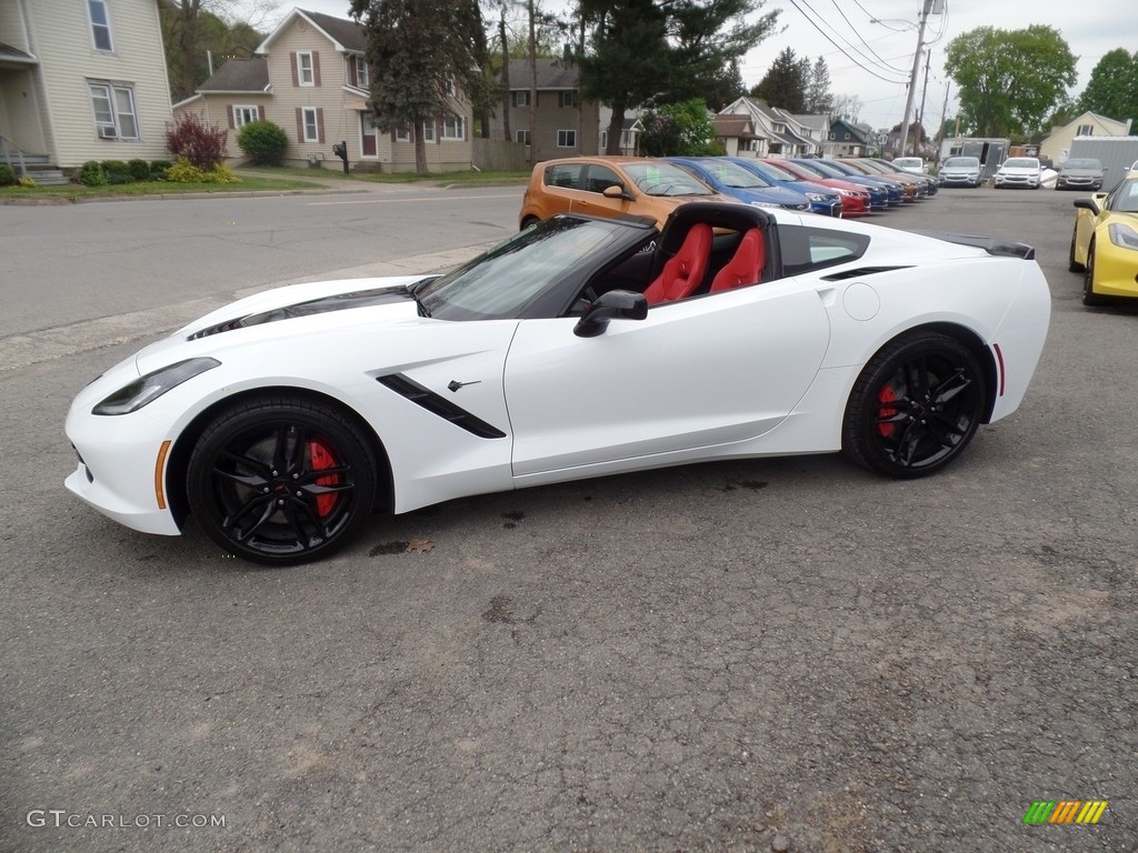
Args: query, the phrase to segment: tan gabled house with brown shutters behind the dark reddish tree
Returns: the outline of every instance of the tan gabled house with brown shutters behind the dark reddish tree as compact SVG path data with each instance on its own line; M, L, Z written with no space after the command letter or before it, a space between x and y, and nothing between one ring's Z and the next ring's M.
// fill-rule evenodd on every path
M413 172L411 133L384 133L372 121L366 45L366 31L355 22L294 9L261 43L257 57L230 59L174 111L196 111L230 127L234 157L240 155L236 132L266 118L284 129L291 165L341 168L332 146L345 143L355 171ZM470 168L470 103L456 88L452 96L453 109L424 126L431 172Z

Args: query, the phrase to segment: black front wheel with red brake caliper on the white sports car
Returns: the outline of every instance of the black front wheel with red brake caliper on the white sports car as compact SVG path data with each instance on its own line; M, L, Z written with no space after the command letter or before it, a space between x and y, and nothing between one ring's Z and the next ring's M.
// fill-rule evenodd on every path
M190 512L226 553L295 565L343 547L376 499L376 457L331 406L282 396L234 406L190 456Z

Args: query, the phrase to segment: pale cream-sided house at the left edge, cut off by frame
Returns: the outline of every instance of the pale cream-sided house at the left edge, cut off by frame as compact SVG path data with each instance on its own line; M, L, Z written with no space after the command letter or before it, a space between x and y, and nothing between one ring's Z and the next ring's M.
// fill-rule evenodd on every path
M0 163L170 156L159 2L0 0Z

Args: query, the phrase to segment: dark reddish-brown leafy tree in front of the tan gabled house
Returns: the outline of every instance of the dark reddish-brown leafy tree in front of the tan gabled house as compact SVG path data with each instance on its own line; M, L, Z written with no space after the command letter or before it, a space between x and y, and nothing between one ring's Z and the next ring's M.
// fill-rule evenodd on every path
M352 0L368 28L370 105L381 131L410 130L415 172L427 174L424 122L455 109L455 85L475 103L485 80L477 56L477 0Z

